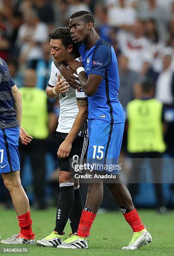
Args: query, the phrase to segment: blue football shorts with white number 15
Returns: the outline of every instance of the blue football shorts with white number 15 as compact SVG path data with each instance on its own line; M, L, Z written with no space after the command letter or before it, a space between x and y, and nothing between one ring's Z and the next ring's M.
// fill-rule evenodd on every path
M123 132L124 122L111 124L99 119L88 120L87 164L92 164L93 170L119 174Z

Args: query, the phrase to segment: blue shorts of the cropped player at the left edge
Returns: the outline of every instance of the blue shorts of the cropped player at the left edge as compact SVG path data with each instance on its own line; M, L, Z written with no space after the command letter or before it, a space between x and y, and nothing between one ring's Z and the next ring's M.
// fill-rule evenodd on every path
M20 170L19 127L0 129L0 173Z

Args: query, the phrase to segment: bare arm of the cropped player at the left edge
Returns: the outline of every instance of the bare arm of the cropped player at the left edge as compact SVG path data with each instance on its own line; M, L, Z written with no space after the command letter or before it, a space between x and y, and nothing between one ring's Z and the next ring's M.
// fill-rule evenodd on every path
M19 140L22 144L27 145L32 140L32 136L28 135L27 132L21 126L22 119L22 96L17 86L12 86L12 95L15 100L16 119L20 125L20 136Z

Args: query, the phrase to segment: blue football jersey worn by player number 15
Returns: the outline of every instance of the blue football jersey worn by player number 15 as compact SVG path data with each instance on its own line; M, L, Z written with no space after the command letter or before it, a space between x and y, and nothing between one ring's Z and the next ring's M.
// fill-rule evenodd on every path
M88 97L89 119L101 119L109 123L124 122L124 112L118 99L119 73L117 57L110 43L99 38L87 51L85 44L78 44L82 64L87 76L102 76L97 92Z

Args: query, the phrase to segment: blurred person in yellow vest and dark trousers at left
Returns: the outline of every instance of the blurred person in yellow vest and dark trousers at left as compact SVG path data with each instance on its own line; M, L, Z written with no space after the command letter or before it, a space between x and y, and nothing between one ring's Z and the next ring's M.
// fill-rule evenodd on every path
M36 72L34 69L27 69L24 74L24 87L20 88L23 105L22 127L31 134L33 140L26 147L20 144L19 150L22 170L25 156L30 156L35 207L45 209L46 140L49 135L49 117L53 110L48 110L45 91L36 88L35 85Z

